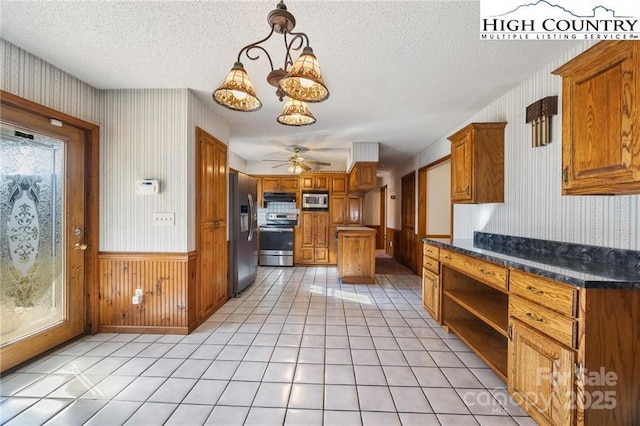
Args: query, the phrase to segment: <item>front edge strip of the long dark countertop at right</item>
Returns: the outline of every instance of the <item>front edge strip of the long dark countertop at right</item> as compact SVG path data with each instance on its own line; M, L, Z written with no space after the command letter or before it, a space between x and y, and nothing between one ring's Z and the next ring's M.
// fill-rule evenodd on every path
M607 278L605 277L602 277L602 280L584 280L584 279L572 277L569 275L564 275L561 273L546 270L544 269L544 267L525 265L523 263L518 263L517 261L511 260L511 259L504 259L500 257L502 253L489 252L488 250L485 250L485 249L469 250L466 248L458 247L455 244L449 244L444 241L439 241L438 239L431 239L431 238L423 238L422 242L432 244L434 246L444 248L447 250L462 253L471 257L486 260L488 262L495 263L497 265L506 266L512 269L518 269L520 271L528 272L530 274L538 275L540 277L549 278L549 279L563 282L566 284L571 284L580 288L611 289L611 290L640 290L640 281L619 281L619 280L613 280L613 279L607 280ZM508 255L505 255L505 256L508 256Z

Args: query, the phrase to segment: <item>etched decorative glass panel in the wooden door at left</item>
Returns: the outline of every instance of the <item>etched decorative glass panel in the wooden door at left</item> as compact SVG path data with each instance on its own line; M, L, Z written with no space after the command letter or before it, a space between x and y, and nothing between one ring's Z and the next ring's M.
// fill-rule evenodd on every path
M3 125L0 344L66 319L65 144Z

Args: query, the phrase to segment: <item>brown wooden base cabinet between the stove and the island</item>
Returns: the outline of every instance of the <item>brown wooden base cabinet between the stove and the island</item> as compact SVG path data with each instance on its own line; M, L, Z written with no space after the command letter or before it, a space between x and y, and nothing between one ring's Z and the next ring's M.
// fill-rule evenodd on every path
M298 263L329 263L329 213L302 212L298 240Z

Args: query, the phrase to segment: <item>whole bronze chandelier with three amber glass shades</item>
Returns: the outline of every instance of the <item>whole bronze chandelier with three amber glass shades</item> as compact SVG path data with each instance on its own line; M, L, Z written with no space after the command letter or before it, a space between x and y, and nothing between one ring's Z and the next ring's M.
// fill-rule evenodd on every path
M220 105L234 111L257 111L262 108L262 102L256 96L255 89L249 76L240 62L242 54L256 61L263 52L269 60L271 72L267 75L267 82L276 88L276 95L282 102L287 98L282 113L277 121L287 126L305 126L316 122L309 109L308 102L322 102L329 97L329 90L322 80L322 73L318 61L309 46L309 37L305 33L293 32L296 19L287 12L287 6L280 1L276 9L267 16L271 32L262 40L248 44L238 52L238 60L227 74L224 82L213 92L213 99ZM261 46L274 33L282 34L284 38L285 56L282 68L275 69L269 52ZM306 44L304 48L303 44ZM293 62L292 51L302 49L298 59ZM289 69L291 66L291 69Z

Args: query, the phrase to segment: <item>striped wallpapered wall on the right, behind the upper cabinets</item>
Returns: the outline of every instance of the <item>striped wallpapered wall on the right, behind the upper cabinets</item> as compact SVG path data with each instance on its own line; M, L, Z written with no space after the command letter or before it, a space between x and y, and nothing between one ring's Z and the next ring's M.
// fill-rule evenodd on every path
M472 238L473 231L481 230L640 250L640 195L562 196L562 114L553 117L552 143L545 147L531 147L531 129L525 123L527 105L552 95L560 96L561 102L562 79L552 75L551 71L590 46L590 43L584 43L572 49L468 121L451 129L442 139L420 153L418 164L397 170L391 184L397 187L399 193L399 182L404 174L447 155L450 142L446 136L466 124L506 121L505 202L457 204L454 208L455 238ZM399 208L394 210L394 214L393 225L399 227Z

